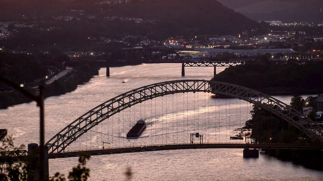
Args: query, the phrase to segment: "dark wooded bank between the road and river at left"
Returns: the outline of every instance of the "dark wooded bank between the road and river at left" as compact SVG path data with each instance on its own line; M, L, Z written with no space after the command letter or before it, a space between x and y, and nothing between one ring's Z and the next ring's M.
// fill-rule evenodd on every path
M90 66L88 64L82 64L74 67L75 71L73 73L70 73L45 86L45 97L47 98L50 96L62 95L75 90L78 85L84 84L85 82L88 82L94 75L98 75L99 69L100 67L98 66ZM31 92L35 91L32 88L26 89ZM9 106L16 104L31 102L30 99L26 98L26 96L16 90L2 92L0 94L0 100L0 109L6 109Z

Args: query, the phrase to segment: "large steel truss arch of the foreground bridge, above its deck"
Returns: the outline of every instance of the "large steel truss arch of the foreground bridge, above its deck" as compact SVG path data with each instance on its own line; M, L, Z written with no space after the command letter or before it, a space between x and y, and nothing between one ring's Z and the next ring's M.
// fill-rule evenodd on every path
M121 110L156 97L184 93L209 92L242 99L260 106L285 119L308 136L323 143L323 129L287 104L261 92L230 83L205 80L177 80L155 83L114 97L88 111L51 138L46 145L49 153L60 153L88 130ZM266 104L263 104L266 103ZM276 105L274 109L272 105ZM303 119L304 118L304 119ZM300 121L302 120L302 121Z

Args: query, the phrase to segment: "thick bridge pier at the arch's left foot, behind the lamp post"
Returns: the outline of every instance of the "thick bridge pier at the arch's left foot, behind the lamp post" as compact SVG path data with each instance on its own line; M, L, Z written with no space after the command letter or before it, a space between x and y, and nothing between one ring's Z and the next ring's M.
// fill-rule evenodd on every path
M27 180L29 181L39 181L39 180L48 180L49 176L49 169L48 169L48 147L44 146L44 162L40 163L39 159L39 147L36 143L30 143L28 144L28 156L30 156L30 159L28 159L27 162ZM39 179L39 168L44 167L44 179Z

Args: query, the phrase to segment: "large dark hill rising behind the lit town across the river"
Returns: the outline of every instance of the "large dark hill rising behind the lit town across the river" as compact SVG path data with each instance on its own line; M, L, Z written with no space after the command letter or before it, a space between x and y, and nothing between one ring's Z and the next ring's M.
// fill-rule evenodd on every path
M42 8L38 10L39 6ZM192 38L205 34L237 35L245 31L250 32L250 36L256 36L265 33L269 28L269 24L258 23L215 0L138 0L109 5L95 5L94 0L58 0L57 3L48 0L26 6L15 1L11 2L10 8L0 7L0 21L4 17L12 21L44 20L47 24L55 24L57 29L65 29L67 33L64 34L70 33L74 36L74 31L84 37L89 34L118 38L141 35L159 41L172 36ZM84 15L77 15L71 9L84 10ZM79 20L66 22L53 18L61 15L78 16ZM89 19L88 15L93 19ZM105 18L113 16L141 18L143 22L134 24L119 18L114 21ZM201 38L203 37L199 37Z

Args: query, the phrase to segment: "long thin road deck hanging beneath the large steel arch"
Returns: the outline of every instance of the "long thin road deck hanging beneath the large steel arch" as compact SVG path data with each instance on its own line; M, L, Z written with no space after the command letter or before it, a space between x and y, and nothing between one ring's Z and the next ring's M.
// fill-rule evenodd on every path
M280 143L206 143L206 144L168 144L168 145L149 145L147 147L120 147L111 149L99 150L78 150L65 153L48 154L49 159L79 157L81 152L93 155L109 155L120 153L135 153L146 151L161 151L161 150L175 150L175 149L205 149L205 148L249 148L249 149L310 149L323 150L323 145L301 145L301 144L280 144Z

